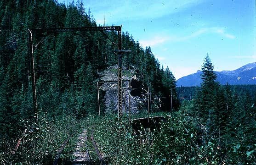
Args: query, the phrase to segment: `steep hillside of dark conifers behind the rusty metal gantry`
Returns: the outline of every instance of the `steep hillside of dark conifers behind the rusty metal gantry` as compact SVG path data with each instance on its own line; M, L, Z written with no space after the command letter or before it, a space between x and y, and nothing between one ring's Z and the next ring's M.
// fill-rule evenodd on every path
M117 64L117 33L97 31L35 35L33 42L38 113L33 110L28 29L95 27L82 2L66 7L56 0L0 1L0 158L2 162L40 162L51 157L61 142L74 133L74 123L97 114L98 71ZM142 48L122 33L123 66L142 75L152 99L163 97L169 110L170 89L175 78L163 69L150 47ZM175 101L174 108L179 106ZM63 132L62 132L63 131ZM65 134L68 132L68 134ZM24 140L21 144L18 139ZM49 143L46 145L48 141ZM26 143L25 143L26 142ZM17 147L15 147L17 146ZM22 146L22 147L21 147Z

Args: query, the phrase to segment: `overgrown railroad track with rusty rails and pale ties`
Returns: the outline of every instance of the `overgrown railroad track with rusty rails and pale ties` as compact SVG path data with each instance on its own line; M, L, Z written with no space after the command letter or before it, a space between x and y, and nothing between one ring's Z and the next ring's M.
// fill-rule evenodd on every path
M73 153L73 156L75 157L75 159L71 162L72 165L106 165L104 159L102 158L102 155L99 152L99 149L97 148L96 142L94 140L93 137L93 130L91 132L91 142L93 144L93 147L95 149L95 152L98 156L99 161L98 162L92 162L91 161L91 157L89 154L89 149L87 146L88 143L88 138L87 138L87 130L84 130L83 132L80 133L79 137L78 137L78 142L76 143L75 146L75 151ZM72 137L73 135L71 135L70 137ZM61 148L57 151L56 154L56 159L53 163L53 165L57 165L58 163L58 159L63 151L63 149L65 148L65 146L68 143L68 140L70 139L70 137L68 137L65 142L62 144Z

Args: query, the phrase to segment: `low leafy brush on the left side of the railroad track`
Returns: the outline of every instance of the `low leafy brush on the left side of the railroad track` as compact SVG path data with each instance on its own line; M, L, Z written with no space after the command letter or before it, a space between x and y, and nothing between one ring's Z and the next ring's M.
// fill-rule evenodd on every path
M40 122L37 126L27 126L27 131L17 139L0 139L0 162L3 165L9 164L52 164L56 158L57 151L69 138L64 147L60 160L72 160L73 146L76 141L76 134L80 130L79 121L74 116L66 115L49 119L46 114L40 115ZM19 146L17 147L17 144ZM16 148L17 147L17 148Z

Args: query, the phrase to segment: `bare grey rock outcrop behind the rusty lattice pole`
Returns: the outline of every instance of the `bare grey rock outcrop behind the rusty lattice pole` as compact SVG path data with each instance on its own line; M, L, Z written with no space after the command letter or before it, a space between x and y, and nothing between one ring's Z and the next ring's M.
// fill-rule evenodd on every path
M111 66L107 70L98 73L100 93L104 95L104 113L117 113L118 110L118 73L117 66ZM142 83L136 77L135 70L126 70L122 68L122 113L128 114L129 109L131 114L136 114L145 105L145 100L142 98ZM132 82L132 83L131 83ZM135 85L136 84L136 85ZM137 91L134 94L134 91Z

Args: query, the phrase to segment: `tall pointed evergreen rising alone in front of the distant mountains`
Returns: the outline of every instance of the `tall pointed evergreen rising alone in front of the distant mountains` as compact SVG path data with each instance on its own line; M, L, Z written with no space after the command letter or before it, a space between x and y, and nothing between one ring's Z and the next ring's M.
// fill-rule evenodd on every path
M224 129L227 117L224 93L220 90L220 85L216 82L216 74L213 71L214 66L207 54L202 66L203 80L201 89L197 93L195 114L207 129L208 139L210 137L220 137L221 129Z

